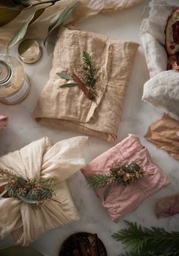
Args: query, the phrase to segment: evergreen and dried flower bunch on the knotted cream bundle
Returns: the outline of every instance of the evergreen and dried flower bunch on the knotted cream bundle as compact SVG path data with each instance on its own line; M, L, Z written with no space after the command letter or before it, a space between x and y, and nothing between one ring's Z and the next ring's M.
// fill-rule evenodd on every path
M51 181L40 181L37 178L26 179L17 176L13 171L0 169L0 181L8 181L0 197L8 193L9 197L23 200L32 206L39 206L47 199L52 200L55 194Z

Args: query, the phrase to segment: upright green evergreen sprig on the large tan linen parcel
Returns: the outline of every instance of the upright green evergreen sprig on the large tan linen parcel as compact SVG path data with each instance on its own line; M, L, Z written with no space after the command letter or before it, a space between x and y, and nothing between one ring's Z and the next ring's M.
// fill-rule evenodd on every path
M86 65L85 69L86 69L88 86L94 89L96 84L97 69L95 68L93 58L92 56L89 55L89 53L83 50L82 56L83 56L83 62Z

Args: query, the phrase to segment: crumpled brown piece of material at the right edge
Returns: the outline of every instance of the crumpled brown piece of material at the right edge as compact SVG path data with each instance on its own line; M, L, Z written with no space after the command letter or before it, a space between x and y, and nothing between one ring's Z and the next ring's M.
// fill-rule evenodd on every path
M168 114L152 123L145 135L159 149L179 160L179 122Z

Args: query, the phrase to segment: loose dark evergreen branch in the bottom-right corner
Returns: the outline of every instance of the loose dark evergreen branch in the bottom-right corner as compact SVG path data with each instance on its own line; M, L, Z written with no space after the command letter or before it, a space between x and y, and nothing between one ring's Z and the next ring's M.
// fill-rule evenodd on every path
M179 232L167 232L163 228L146 228L136 222L125 221L127 228L112 235L126 245L129 252L121 256L178 256Z

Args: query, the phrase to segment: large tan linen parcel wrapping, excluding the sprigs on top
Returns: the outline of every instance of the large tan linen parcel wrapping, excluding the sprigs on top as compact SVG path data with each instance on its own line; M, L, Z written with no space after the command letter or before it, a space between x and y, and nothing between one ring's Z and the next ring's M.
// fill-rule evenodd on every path
M34 117L51 126L98 136L115 142L127 81L139 44L119 41L92 32L64 28L58 34L49 82L40 94ZM78 87L61 88L65 80L56 73L74 71L85 50L98 69L102 87L96 101L86 98Z

